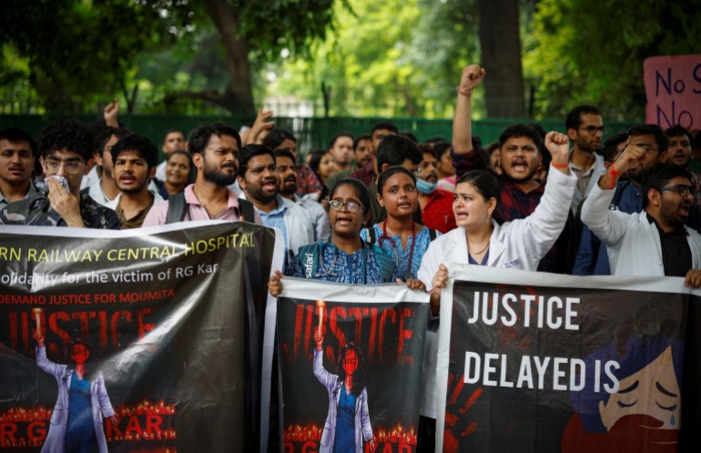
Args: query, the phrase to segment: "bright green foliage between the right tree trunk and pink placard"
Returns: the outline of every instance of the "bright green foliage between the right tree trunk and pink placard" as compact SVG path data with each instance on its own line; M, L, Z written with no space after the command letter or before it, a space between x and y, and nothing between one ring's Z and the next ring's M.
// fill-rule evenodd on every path
M643 118L645 58L698 53L701 10L674 0L540 0L532 26L524 66L537 116L587 103L611 119Z

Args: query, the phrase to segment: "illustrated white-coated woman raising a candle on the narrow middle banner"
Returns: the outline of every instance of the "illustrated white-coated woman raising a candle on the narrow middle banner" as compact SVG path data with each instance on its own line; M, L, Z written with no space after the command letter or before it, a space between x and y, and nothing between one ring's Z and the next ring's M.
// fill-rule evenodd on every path
M375 442L360 348L348 343L340 349L338 374L334 375L323 367L324 336L320 330L315 330L314 341L314 376L329 392L329 415L321 435L320 453L362 453L363 440L373 451Z

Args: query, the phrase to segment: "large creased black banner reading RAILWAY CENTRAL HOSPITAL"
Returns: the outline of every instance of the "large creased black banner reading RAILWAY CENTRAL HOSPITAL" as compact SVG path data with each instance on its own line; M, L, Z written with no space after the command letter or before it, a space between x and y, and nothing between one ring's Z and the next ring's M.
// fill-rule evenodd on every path
M266 448L263 323L279 246L246 223L4 227L0 449Z

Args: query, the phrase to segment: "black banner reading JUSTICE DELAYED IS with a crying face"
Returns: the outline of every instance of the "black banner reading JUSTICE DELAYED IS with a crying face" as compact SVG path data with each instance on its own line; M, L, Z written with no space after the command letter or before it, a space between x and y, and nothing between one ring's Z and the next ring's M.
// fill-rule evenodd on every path
M437 451L679 451L683 278L449 268Z

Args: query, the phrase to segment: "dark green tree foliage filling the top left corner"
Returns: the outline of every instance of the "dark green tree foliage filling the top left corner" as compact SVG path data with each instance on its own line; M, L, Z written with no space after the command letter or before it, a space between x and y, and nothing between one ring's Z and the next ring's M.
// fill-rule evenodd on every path
M171 8L184 7L175 0ZM0 80L28 80L48 112L82 112L97 98L127 87L135 55L175 37L168 30L180 24L146 2L114 0L8 0L0 15L4 43ZM25 70L11 60L18 55ZM9 78L6 78L8 77Z

